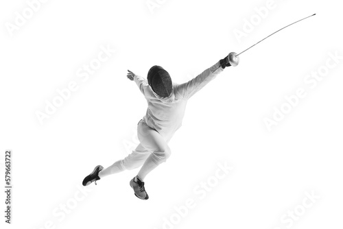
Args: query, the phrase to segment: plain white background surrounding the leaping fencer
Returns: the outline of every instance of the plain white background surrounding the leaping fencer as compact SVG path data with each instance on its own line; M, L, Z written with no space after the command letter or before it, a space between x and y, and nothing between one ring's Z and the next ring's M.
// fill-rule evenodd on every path
M343 60L314 88L304 82L329 53L343 56L340 1L275 0L240 40L235 29L243 31L244 19L268 1L156 2L151 11L145 0L51 0L11 36L6 23L28 5L1 1L1 173L5 149L12 149L11 227L159 229L174 215L180 220L169 228L342 228ZM91 184L86 197L79 193L96 165L107 167L137 145L146 102L127 69L146 77L158 64L174 82L186 82L230 51L314 13L241 54L237 67L189 100L171 157L145 179L149 200L129 186L138 170ZM78 69L108 45L113 56L82 82ZM72 81L78 90L41 124L36 112ZM298 88L307 96L268 131L263 119ZM201 199L193 190L211 180L218 162L233 170ZM318 200L292 226L283 223L306 192ZM178 218L175 207L188 198L196 206ZM62 204L73 209L62 213Z

